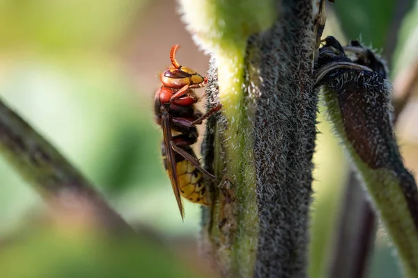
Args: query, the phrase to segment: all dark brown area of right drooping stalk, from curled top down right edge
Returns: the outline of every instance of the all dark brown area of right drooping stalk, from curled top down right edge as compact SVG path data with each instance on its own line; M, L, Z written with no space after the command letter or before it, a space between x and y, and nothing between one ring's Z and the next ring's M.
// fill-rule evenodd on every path
M348 52L353 55L347 56ZM366 171L380 170L396 179L418 230L417 186L403 165L394 136L392 85L386 76L385 61L357 41L341 47L335 38L328 37L319 51L316 85L323 85L336 133L354 153L354 160L360 159L369 168ZM361 165L357 163L357 167L364 167ZM381 189L388 190L390 181L377 179L382 179Z

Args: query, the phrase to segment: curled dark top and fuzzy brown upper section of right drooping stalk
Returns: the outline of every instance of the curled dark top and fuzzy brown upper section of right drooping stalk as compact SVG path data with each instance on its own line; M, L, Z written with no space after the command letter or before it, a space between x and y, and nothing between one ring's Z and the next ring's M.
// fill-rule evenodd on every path
M325 85L325 94L336 94L346 137L362 161L372 169L391 167L401 156L393 135L392 85L385 80L385 63L357 41L347 47L331 36L324 41L317 84ZM354 61L345 50L355 54Z

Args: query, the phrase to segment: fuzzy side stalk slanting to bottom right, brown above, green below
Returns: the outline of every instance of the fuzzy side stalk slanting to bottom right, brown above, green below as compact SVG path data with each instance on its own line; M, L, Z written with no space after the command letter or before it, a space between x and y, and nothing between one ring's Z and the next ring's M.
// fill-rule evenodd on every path
M376 72L347 70L327 83L336 134L382 218L408 277L418 275L418 192L393 133L392 85Z

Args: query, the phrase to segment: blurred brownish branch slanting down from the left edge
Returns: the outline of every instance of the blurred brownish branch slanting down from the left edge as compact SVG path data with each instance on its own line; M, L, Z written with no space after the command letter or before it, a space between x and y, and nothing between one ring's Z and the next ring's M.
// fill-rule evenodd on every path
M70 209L88 208L105 231L133 232L91 183L1 100L0 150L48 201Z

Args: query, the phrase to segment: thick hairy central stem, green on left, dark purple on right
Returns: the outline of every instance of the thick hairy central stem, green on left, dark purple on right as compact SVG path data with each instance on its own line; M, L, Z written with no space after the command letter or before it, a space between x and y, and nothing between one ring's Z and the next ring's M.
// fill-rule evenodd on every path
M231 52L212 57L208 106L223 108L208 120L202 153L206 168L229 182L221 190L207 182L215 194L202 235L224 277L306 276L322 5L282 1L280 19L236 60Z

